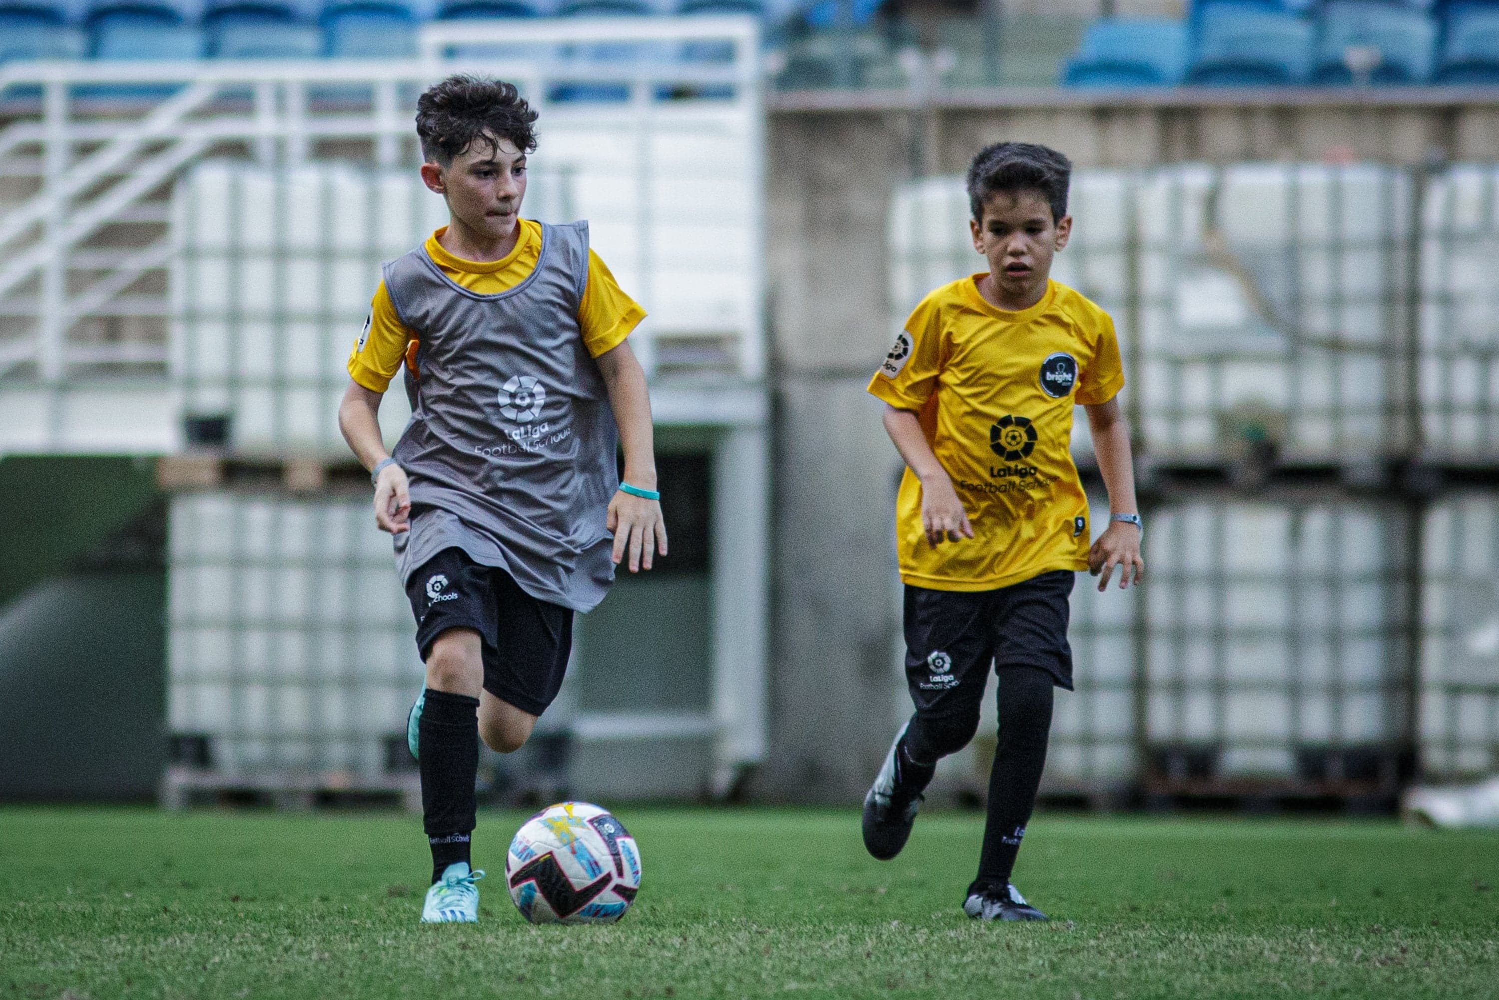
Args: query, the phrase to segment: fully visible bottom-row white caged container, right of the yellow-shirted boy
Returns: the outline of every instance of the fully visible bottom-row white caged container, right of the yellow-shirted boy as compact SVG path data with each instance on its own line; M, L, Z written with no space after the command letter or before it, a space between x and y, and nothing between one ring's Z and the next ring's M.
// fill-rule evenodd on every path
M1298 751L1400 741L1396 508L1193 499L1148 532L1151 744L1211 745L1220 777L1294 777Z

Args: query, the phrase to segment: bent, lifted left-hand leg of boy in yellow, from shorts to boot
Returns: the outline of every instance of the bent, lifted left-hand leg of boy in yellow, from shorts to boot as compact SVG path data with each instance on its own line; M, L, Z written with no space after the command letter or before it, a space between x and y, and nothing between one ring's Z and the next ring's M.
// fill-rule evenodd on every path
M880 861L905 846L937 762L979 726L994 658L989 595L905 588L905 679L916 712L863 799L863 846Z

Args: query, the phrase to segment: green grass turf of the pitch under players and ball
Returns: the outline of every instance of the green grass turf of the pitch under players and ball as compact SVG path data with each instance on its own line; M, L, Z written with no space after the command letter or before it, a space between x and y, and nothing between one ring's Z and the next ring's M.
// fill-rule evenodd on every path
M616 927L522 922L514 814L486 814L483 921L421 927L400 816L0 811L7 997L1493 997L1499 837L1384 822L1039 817L1016 871L1051 924L958 910L982 822L893 862L854 813L621 810L645 885Z

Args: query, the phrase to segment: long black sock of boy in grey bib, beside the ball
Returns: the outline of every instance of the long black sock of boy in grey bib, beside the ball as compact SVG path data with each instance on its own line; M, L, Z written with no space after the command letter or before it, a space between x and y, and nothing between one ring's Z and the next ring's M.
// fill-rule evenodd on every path
M421 748L421 825L432 847L432 880L469 861L478 802L478 699L427 688L417 724Z

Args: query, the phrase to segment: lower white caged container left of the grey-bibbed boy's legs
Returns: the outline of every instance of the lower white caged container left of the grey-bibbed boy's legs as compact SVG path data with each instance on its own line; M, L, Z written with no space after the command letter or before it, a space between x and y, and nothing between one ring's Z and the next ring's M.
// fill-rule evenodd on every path
M379 778L423 666L369 499L171 501L168 720L213 771Z

